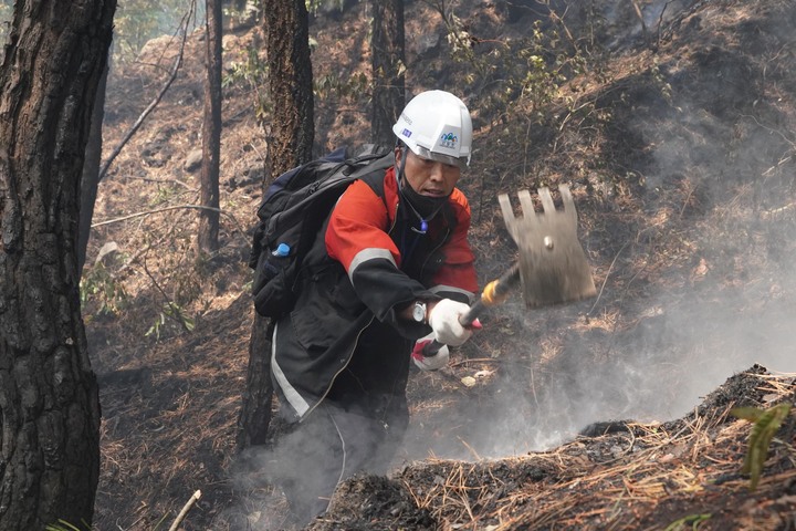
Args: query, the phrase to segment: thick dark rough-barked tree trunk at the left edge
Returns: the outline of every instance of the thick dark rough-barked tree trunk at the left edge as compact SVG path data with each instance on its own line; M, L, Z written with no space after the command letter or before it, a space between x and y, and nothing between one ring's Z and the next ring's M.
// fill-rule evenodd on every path
M80 181L114 0L18 0L0 65L0 529L92 522L100 399Z

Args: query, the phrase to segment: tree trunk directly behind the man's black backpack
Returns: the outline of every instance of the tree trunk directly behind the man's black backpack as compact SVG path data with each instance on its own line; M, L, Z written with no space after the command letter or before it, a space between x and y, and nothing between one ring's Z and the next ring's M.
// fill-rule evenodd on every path
M268 6L264 27L273 119L263 190L270 176L310 160L315 133L306 4L304 0L272 0ZM270 322L255 314L239 419L239 448L262 445L266 440L273 396L270 357Z

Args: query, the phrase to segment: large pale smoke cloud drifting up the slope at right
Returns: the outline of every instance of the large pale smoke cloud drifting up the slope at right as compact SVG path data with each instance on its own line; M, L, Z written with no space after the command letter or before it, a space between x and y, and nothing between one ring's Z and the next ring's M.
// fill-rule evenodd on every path
M546 316L495 310L512 323L502 326L534 332L504 342L500 382L490 396L470 392L469 418L450 423L459 421L454 436L431 449L410 440L407 459L549 449L593 423L680 418L755 364L796 373L796 142L783 104L796 85L793 52L775 53L789 49L796 20L764 14L737 28L703 19L701 30L727 44L661 56L672 101L651 104L647 92L617 112L617 136L642 144L632 169L645 178L649 219L617 230L626 240L598 263L619 264L590 314L606 324L583 330L594 301L534 311ZM563 341L551 347L548 334Z

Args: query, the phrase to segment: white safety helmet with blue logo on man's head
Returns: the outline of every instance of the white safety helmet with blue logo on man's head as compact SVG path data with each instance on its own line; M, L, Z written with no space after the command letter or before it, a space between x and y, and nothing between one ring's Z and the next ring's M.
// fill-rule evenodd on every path
M419 157L470 165L472 119L467 105L450 92L427 91L404 108L392 133Z

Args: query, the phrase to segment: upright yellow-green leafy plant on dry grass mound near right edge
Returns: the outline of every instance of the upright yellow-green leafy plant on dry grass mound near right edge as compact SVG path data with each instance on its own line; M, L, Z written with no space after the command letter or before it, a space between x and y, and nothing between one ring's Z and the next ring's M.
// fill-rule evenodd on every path
M736 407L730 413L737 418L754 423L748 438L748 449L741 469L742 473L750 476L750 490L755 490L760 482L763 465L768 457L768 446L774 434L782 426L785 417L790 413L790 404L783 403L768 409L756 407Z

